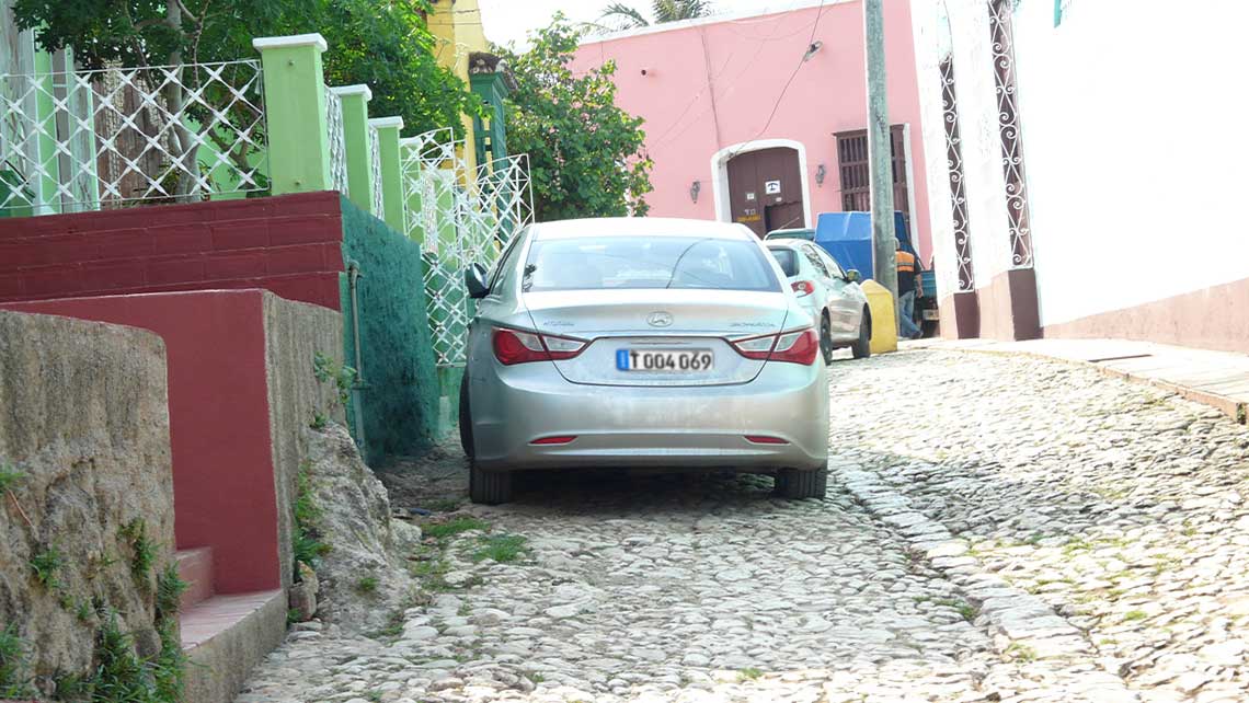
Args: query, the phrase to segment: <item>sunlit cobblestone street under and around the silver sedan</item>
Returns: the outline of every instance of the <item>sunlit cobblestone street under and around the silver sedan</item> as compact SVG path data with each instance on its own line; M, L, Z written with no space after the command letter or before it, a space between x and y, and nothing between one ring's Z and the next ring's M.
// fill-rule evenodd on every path
M296 626L239 703L1249 698L1243 426L1024 356L831 378L827 499L536 478L426 531L393 627Z

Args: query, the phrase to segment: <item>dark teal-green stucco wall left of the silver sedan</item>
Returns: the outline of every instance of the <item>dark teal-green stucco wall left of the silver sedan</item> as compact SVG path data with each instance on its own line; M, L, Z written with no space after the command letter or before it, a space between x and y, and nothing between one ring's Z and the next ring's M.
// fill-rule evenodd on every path
M356 295L362 365L356 360L350 280L346 272L341 278L343 357L363 371L360 401L353 403L362 412L352 407L350 420L357 440L362 421L365 453L373 463L427 450L450 430L447 416L455 417L458 396L451 395L450 406L440 398L448 378L440 378L435 367L420 243L350 200L341 201L342 258L348 266L355 261L361 272Z

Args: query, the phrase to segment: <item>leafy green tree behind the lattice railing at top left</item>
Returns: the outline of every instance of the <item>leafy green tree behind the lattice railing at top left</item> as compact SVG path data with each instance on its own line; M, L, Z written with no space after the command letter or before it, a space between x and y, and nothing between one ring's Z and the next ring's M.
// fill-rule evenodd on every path
M433 36L425 24L428 0L15 0L17 26L32 29L45 50L72 47L86 69L110 64L127 67L181 66L255 57L257 36L321 32L326 80L331 85L368 84L373 115L400 115L408 134L458 125L466 110L480 110L463 81L437 64ZM181 84L199 87L200 77L181 71ZM241 74L245 76L245 74ZM229 72L226 81L234 81ZM232 101L224 86L205 90L205 100L224 109ZM161 90L174 114L206 119L209 112L189 107L184 85ZM234 102L231 110L252 110ZM236 115L249 124L251 115ZM247 146L232 135L210 132L216 146L240 166ZM194 161L195 146L182 125L171 130L170 151L181 162ZM186 195L194 179L184 175L177 195Z

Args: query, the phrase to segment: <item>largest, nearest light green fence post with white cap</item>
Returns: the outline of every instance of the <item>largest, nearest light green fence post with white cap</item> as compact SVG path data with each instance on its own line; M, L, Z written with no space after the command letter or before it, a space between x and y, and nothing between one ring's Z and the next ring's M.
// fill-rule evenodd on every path
M333 190L320 34L254 39L265 71L274 195Z

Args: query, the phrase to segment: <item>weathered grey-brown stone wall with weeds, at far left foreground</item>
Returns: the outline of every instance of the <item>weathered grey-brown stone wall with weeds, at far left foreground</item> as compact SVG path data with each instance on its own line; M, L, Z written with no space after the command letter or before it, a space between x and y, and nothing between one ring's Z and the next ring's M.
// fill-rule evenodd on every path
M155 572L174 549L160 337L0 311L0 465L19 474L0 494L0 629L25 641L26 676L46 692L89 673L109 611L155 654ZM137 524L152 549L139 573Z

